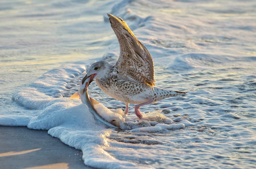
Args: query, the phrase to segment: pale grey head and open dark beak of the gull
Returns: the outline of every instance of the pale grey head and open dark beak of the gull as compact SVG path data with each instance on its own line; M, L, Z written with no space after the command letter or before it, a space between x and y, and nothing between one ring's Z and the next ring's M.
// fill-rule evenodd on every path
M85 84L85 86L88 87L94 79L98 79L104 76L108 71L109 71L108 62L106 61L95 62L90 66L90 68L88 68L87 74L82 79L82 85L84 85L84 83L88 83L87 86Z

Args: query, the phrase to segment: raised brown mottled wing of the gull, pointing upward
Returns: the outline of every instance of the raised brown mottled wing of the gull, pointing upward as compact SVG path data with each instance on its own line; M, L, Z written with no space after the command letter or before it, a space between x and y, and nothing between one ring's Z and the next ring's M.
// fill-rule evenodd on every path
M120 45L120 56L115 65L119 74L155 86L154 63L146 47L134 36L122 18L109 13L108 16Z

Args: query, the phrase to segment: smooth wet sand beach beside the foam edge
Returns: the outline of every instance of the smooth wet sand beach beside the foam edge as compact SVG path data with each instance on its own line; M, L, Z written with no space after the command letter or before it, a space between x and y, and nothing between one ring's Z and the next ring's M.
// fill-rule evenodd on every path
M45 130L0 126L0 169L92 169L82 152Z

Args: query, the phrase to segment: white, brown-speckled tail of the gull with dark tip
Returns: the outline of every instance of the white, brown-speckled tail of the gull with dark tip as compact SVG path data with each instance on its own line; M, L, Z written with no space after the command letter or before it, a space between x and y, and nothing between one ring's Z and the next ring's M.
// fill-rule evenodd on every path
M154 101L160 101L162 99L166 99L172 96L186 94L186 92L183 92L183 91L165 90L157 87L154 87L154 90L155 90Z

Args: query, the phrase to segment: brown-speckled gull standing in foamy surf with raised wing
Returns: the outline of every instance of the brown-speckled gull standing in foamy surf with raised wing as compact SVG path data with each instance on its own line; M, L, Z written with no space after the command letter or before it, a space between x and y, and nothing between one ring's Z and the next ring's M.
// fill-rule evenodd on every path
M135 37L128 25L120 17L108 13L113 31L120 45L120 56L115 65L98 61L90 66L82 79L88 85L95 79L98 87L110 97L125 103L124 114L129 112L129 104L141 119L141 106L154 103L171 96L186 94L155 87L153 58L146 47ZM88 78L90 78L88 80ZM87 86L87 84L86 84Z

